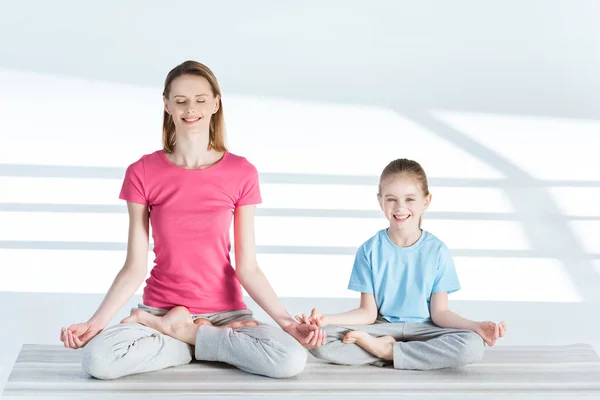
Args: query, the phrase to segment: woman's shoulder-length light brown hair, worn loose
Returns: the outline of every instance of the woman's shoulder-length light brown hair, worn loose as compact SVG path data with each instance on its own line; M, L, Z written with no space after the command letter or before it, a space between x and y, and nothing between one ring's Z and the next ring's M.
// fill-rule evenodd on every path
M215 74L206 65L197 61L186 61L173 68L165 79L163 96L169 98L171 84L183 75L195 75L205 78L212 88L213 96L219 96L219 108L210 118L208 150L227 151L225 146L225 119L223 117L223 102L221 100L221 88ZM165 153L173 153L175 150L175 123L173 117L166 110L163 112L163 149Z

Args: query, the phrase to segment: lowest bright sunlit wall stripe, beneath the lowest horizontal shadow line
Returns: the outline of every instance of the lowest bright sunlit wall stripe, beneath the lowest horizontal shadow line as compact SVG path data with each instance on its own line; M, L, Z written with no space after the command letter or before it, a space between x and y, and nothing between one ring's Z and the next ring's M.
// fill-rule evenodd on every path
M150 253L149 264L152 258ZM0 292L106 293L124 260L124 251L0 249ZM353 261L352 255L258 256L281 297L358 298L358 293L346 289ZM556 260L456 257L455 261L462 290L451 299L581 301L568 270ZM596 267L600 273L600 264Z

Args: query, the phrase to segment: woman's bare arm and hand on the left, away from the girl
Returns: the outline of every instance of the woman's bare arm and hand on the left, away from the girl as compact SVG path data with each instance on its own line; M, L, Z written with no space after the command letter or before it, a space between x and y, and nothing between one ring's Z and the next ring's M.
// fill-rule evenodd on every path
M88 322L74 324L61 331L60 340L65 347L76 349L85 346L108 325L146 277L148 271L148 207L128 202L127 209L129 211L129 234L125 264Z

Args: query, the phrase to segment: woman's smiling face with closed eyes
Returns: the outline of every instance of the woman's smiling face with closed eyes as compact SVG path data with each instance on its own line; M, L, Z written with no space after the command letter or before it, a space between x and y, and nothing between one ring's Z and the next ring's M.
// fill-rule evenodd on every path
M195 75L175 78L169 98L163 100L178 134L207 133L210 118L219 109L219 96L213 96L210 83Z

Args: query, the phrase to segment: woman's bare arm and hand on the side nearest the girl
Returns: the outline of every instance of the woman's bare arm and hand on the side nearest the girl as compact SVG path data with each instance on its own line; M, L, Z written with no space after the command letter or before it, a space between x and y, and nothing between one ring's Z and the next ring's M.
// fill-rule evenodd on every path
M252 300L286 332L308 348L325 344L325 332L315 325L298 324L286 311L267 277L256 262L254 239L255 206L241 206L234 211L235 273Z

